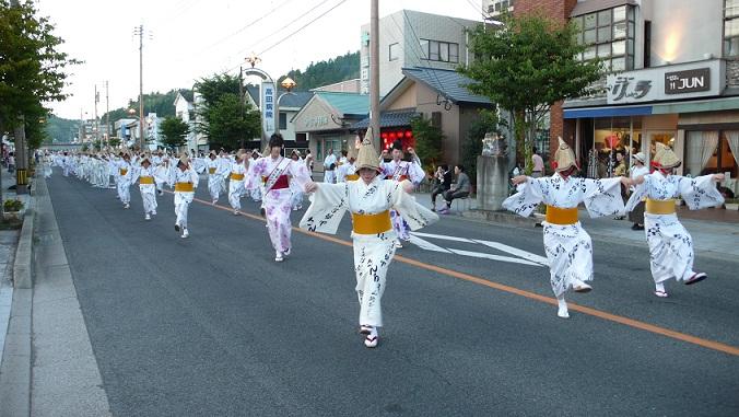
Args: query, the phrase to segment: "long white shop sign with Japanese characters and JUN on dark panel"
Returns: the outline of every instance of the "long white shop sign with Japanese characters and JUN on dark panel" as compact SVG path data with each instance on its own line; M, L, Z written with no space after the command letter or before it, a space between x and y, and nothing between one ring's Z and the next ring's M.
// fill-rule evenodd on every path
M608 104L648 103L719 95L725 85L722 59L609 74Z

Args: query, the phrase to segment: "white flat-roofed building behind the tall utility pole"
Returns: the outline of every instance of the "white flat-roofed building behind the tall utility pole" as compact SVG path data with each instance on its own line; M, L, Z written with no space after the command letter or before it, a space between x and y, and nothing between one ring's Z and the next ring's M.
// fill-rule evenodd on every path
M402 69L454 70L471 59L466 30L482 22L401 10L379 20L379 94L403 78ZM370 24L362 26L361 93L370 92Z

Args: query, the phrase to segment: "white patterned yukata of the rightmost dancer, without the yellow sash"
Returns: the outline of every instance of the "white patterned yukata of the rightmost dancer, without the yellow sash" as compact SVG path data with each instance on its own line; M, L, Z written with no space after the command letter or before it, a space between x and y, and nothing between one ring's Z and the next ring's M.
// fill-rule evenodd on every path
M713 175L689 178L680 175L662 175L660 172L644 175L644 183L636 186L626 202L626 210L633 210L643 199L672 200L682 198L688 208L697 210L724 204L724 197L716 188ZM670 278L689 280L693 271L693 239L678 220L678 216L644 213L644 230L649 245L649 266L655 283Z

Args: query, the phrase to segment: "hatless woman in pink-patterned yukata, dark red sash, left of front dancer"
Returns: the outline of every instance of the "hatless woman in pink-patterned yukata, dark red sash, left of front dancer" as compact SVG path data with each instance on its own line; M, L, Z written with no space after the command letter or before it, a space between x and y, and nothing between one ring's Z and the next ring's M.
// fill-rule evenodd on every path
M267 218L267 230L274 247L274 262L282 262L290 255L292 224L290 223L290 183L296 182L302 188L310 182L305 164L281 157L284 140L273 134L269 139L269 154L249 164L247 188L259 182L263 184L262 204Z

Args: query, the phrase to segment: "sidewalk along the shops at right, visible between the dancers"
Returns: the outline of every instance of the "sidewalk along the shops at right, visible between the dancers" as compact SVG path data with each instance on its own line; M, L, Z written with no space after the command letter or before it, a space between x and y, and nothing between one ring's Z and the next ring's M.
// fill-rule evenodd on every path
M415 199L423 206L431 207L431 194L418 193L415 194ZM436 197L436 207L441 208L442 205L443 198L441 196ZM451 212L446 216L442 215L442 218L453 216L466 219L461 217L462 211L474 209L478 205L474 198L470 198L468 201L460 201L459 204L454 202ZM579 211L580 222L591 236L640 245L644 246L644 248L647 247L644 231L631 230L632 223L629 220L613 220L610 217L591 219L584 208L580 208ZM696 253L717 258L731 256L739 258L739 245L737 244L739 242L739 211L737 213L732 211L727 212L724 209L691 211L684 207L680 207L678 209L678 217L693 236ZM498 218L507 219L507 221L496 223L521 224L513 213L509 213L509 216L498 216ZM715 219L720 219L720 221L716 221Z

